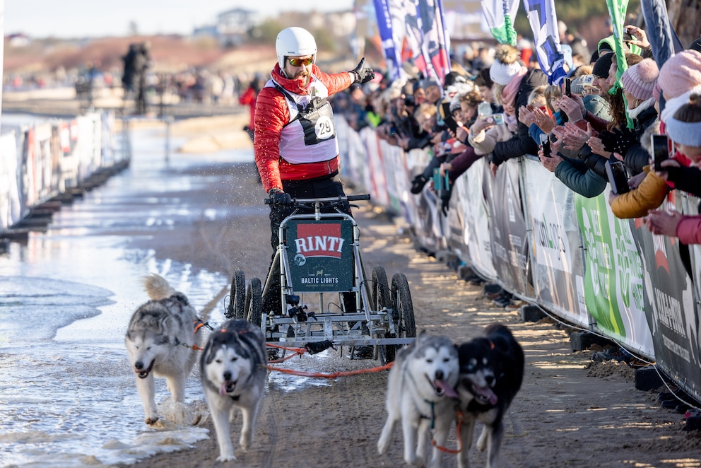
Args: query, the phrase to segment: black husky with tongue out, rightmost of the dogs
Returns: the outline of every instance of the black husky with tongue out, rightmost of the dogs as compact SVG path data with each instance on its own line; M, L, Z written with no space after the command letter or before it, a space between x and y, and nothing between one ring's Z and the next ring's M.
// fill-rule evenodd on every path
M508 327L495 323L478 337L458 346L460 376L457 393L463 414L460 431L461 468L470 466L468 451L475 423L484 423L477 442L478 450L487 449L487 467L495 468L504 438L503 418L524 378L524 351Z

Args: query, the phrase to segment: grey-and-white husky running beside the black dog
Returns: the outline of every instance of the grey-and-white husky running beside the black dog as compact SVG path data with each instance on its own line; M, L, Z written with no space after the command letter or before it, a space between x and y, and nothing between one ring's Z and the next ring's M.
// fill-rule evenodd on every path
M456 346L445 337L429 336L424 331L413 344L400 349L389 370L387 422L377 441L378 452L387 452L400 419L406 463L425 464L430 428L435 444L444 446L456 414L453 389L458 375ZM430 466L441 463L442 452L434 448Z

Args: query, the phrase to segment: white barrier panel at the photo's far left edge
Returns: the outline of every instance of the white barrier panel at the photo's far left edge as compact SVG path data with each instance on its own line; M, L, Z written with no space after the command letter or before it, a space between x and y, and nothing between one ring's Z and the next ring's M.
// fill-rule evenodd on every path
M16 134L11 132L0 136L0 230L22 218L19 174Z

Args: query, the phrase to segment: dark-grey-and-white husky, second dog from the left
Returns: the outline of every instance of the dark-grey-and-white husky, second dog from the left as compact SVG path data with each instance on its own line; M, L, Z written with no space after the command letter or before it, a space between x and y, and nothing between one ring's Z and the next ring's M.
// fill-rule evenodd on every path
M200 358L200 377L217 433L220 462L236 460L230 422L235 408L243 414L239 445L245 452L253 441L258 406L267 376L265 337L246 320L228 320L210 335Z

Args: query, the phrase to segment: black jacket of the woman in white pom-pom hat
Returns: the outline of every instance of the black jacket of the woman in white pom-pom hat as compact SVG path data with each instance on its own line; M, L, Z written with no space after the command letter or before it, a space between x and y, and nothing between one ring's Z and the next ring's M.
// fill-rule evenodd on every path
M514 108L518 110L522 106L527 105L531 91L538 86L547 84L548 77L543 71L539 69L529 69L526 75L521 79L521 86L519 86L519 90L516 93ZM505 160L536 153L538 153L538 145L529 135L528 127L518 121L517 133L507 141L498 142L494 146L490 160L496 165L500 165Z

